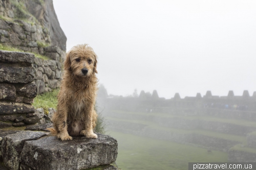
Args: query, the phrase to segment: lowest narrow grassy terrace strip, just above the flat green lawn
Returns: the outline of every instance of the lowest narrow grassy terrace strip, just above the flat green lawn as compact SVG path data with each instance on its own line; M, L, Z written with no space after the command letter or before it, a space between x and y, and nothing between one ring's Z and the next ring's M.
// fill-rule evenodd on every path
M202 134L202 135L205 135L205 136L211 136L211 137L222 138L222 139L227 139L227 140L234 140L234 141L239 141L241 143L246 143L246 137L245 136L224 134L224 133L218 133L218 132L212 132L212 131L206 131L206 130L200 130L200 129L185 130L185 129L167 128L167 127L159 126L159 124L156 124L156 123L153 123L153 122L150 122L150 121L146 121L146 120L121 119L121 118L114 118L114 117L109 117L109 116L105 117L105 118L106 118L106 120L115 120L117 122L129 122L129 123L136 123L136 124L146 125L148 128L156 129L156 130L159 130L159 131L174 132L174 133L179 133L179 134L196 133L196 134Z

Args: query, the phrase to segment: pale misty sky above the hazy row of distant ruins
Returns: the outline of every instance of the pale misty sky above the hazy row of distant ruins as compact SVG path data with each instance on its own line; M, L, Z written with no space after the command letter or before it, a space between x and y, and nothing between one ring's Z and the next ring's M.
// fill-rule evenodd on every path
M109 94L256 91L256 1L53 0L67 51L88 43Z

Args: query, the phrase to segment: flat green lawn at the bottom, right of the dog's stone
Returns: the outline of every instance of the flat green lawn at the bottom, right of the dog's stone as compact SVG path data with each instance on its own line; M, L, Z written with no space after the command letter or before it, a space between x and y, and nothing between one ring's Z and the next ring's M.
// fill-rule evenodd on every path
M117 165L123 170L187 170L188 162L227 162L227 153L110 131L118 141Z

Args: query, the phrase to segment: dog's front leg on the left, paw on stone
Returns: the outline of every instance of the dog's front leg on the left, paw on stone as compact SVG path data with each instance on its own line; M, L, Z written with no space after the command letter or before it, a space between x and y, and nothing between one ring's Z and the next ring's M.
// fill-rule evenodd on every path
M57 138L62 141L72 140L72 137L68 133L67 117L68 117L68 108L67 106L58 106L58 134Z

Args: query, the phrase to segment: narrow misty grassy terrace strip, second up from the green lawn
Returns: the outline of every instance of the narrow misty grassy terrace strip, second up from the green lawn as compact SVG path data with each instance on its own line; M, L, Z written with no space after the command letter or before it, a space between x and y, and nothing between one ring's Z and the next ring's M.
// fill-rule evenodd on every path
M157 116L157 117L177 117L183 119L190 119L190 120L205 120L210 122L220 122L220 123L228 123L234 125L241 125L241 126L248 126L248 127L256 127L256 123L254 121L242 120L242 119L227 119L227 118L218 118L214 116L195 116L195 115L172 115L167 113L143 113L143 112L127 112L127 111L120 111L120 110L113 110L112 112L119 113L119 114L136 114L142 116Z

